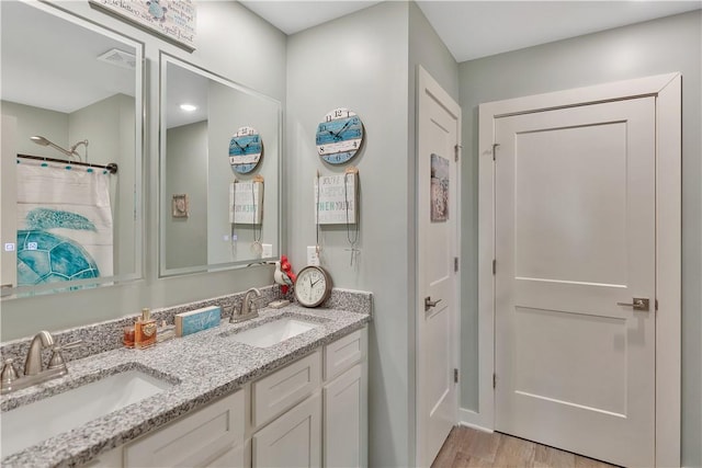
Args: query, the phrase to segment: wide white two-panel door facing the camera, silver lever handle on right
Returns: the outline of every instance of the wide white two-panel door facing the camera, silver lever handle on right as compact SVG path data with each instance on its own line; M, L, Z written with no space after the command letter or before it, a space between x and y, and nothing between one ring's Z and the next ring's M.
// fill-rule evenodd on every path
M655 99L496 122L495 427L653 466Z

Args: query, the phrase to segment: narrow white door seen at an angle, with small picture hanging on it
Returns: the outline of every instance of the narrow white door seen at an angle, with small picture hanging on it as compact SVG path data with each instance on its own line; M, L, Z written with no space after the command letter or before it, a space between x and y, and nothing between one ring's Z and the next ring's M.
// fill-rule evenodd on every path
M457 163L461 109L423 70L418 109L417 465L428 467L457 418Z

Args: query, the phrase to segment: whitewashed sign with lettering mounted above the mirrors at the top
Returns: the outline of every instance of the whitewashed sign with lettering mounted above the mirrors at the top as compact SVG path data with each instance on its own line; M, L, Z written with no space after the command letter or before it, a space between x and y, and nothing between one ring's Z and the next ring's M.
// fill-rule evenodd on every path
M195 50L196 5L192 0L89 0L91 7Z

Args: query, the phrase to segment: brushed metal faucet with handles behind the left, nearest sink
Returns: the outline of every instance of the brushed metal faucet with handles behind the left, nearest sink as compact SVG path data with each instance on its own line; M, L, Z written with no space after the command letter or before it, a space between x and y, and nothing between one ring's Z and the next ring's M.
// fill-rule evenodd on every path
M30 351L26 353L24 362L24 376L20 377L14 368L14 359L7 358L2 366L2 395L10 393L36 384L61 377L68 373L68 367L64 361L63 350L68 350L82 344L82 341L75 341L64 346L54 341L54 336L46 330L42 330L32 339ZM52 350L52 358L46 369L43 367L42 351Z

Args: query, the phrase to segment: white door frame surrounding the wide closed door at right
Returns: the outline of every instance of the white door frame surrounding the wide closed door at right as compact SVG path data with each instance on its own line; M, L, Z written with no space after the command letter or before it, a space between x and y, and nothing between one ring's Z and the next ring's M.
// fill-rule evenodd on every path
M478 411L495 427L495 119L561 107L656 98L656 466L680 466L682 84L678 72L496 101L478 116ZM499 150L498 150L499 157ZM499 267L499 265L497 265ZM499 376L498 376L499 379Z

